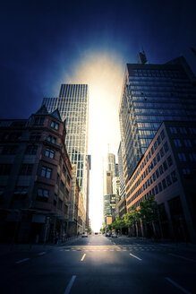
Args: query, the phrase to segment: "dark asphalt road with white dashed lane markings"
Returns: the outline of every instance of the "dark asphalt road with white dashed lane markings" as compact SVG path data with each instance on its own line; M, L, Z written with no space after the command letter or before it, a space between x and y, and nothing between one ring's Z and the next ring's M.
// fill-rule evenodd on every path
M1 294L195 293L196 252L134 238L75 238L0 256Z

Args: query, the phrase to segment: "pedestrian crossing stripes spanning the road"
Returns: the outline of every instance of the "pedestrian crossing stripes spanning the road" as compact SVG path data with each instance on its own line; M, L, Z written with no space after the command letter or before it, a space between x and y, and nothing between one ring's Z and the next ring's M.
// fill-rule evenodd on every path
M176 249L173 247L165 246L65 246L60 251L85 251L85 252L124 252L124 251L159 251L159 252L171 252Z

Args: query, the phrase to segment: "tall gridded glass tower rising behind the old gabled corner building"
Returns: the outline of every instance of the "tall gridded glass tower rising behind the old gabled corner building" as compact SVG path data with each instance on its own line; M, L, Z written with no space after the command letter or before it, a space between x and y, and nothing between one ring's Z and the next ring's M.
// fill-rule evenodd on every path
M58 98L44 98L43 105L52 112L58 108L66 120L66 149L72 164L77 166L77 179L86 208L87 154L89 126L89 86L62 84Z

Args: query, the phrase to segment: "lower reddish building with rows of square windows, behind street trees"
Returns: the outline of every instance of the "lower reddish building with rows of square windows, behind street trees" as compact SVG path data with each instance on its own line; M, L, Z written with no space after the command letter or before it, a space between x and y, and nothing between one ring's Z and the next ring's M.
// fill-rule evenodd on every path
M163 238L196 240L196 124L163 122L126 186L126 204L155 195L158 233ZM145 236L142 226L141 236Z

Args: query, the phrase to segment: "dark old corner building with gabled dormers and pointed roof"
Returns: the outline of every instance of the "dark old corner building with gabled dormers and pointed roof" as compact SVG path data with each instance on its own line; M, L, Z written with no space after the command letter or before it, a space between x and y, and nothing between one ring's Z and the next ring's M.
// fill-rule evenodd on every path
M72 165L58 110L40 108L27 120L0 121L0 239L64 238Z

